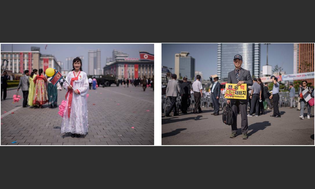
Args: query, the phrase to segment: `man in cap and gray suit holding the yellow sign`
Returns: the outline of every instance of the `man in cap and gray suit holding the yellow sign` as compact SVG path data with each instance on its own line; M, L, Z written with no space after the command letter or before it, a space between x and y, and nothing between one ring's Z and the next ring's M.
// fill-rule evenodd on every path
M250 72L248 70L244 70L241 66L243 63L243 58L241 55L237 54L234 56L233 63L235 69L232 72L229 72L227 77L227 83L233 83L240 86L243 83L246 83L247 86L253 85L253 79L250 76ZM249 100L249 95L247 93L246 99L228 99L227 104L232 104L233 110L233 118L234 122L232 124L232 134L230 138L234 138L237 136L237 114L238 109L241 112L241 128L242 128L242 139L247 139L248 132L248 121L247 121L247 103Z

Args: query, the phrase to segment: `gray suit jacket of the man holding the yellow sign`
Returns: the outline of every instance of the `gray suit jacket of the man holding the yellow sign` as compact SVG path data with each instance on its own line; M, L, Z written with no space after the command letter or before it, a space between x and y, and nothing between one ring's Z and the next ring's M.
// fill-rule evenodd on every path
M243 68L239 71L239 80L244 81L244 83L246 83L247 86L253 85L253 79L250 76L250 72L248 70L244 70ZM235 76L235 69L232 72L229 72L227 76L227 83L233 83L233 84L238 83ZM239 100L241 103L247 103L249 100L249 94L247 93L246 100L245 99L227 99L227 100L231 100L232 104L236 103L236 100Z

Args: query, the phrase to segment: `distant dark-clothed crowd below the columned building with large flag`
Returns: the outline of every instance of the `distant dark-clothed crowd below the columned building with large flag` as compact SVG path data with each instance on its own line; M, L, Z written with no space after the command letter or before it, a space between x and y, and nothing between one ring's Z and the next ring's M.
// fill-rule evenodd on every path
M146 76L144 76L143 78L123 78L118 80L118 82L123 85L123 87L125 88L126 86L129 87L129 84L131 84L132 86L135 87L142 87L143 91L146 90L147 87L150 87L154 90L154 77L152 78L146 78Z

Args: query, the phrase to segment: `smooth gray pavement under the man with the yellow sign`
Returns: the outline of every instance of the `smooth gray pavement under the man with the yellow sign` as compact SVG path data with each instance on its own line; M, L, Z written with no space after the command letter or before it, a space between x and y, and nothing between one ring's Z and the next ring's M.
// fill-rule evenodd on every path
M241 136L241 116L238 115L238 136L229 138L231 126L222 123L213 108L202 107L202 113L164 117L162 115L162 145L314 145L314 107L311 119L300 120L296 108L280 107L281 118L266 115L248 117L248 139ZM307 110L304 111L306 116Z

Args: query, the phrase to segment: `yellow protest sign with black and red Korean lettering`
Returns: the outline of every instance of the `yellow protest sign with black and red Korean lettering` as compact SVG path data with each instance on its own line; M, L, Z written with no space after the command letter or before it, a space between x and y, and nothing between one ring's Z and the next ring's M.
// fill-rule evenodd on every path
M226 83L224 98L229 99L246 99L247 85L246 83L237 86L237 84Z

